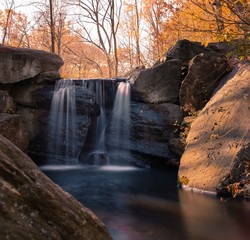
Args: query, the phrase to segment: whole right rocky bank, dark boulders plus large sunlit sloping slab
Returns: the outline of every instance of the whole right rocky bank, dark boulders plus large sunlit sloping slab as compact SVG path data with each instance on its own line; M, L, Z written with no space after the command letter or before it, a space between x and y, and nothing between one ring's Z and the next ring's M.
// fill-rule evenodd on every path
M165 119L148 123L142 110L135 136L157 139L165 164L180 162L185 189L249 199L250 64L228 59L230 50L227 43L180 40L155 66L132 73L135 105Z

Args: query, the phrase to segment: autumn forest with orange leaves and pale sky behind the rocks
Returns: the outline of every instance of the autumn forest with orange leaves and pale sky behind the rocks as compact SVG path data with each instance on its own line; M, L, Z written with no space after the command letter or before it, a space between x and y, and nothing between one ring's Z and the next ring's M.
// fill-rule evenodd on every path
M0 43L64 60L63 78L123 76L179 39L250 55L249 0L1 0Z

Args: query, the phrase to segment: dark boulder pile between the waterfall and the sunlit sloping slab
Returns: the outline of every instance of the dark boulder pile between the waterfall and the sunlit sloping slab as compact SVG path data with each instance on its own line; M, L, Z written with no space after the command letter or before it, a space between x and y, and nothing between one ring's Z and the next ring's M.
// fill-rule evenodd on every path
M205 47L199 42L179 40L152 68L137 69L130 74L133 104L144 104L145 109L150 109L149 115L158 116L154 124L147 123L147 114L134 111L132 105L132 133L140 132L144 142L138 144L137 139L132 145L143 146L152 156L161 152L165 162L178 161L190 128L183 117L196 116L210 100L228 73L229 50L226 43L210 43ZM160 145L165 151L159 149Z

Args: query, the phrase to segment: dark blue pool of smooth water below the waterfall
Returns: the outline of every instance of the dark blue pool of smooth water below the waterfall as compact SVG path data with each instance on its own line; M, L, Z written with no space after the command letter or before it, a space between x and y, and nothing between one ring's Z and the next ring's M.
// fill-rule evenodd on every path
M248 240L250 204L179 190L176 169L44 166L114 240Z

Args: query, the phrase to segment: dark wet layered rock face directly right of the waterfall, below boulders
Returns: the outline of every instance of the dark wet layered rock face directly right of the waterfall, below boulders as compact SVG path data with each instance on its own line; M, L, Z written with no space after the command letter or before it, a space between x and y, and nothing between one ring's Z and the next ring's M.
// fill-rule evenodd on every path
M173 121L174 115L166 110L166 104L162 108L158 106L161 113L154 110L154 107L152 104L138 102L131 104L130 151L136 155L137 164L142 166L163 166L174 157L168 149L168 141L176 133L172 126L166 125Z

